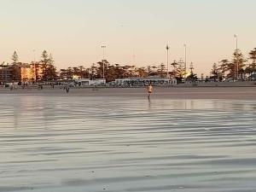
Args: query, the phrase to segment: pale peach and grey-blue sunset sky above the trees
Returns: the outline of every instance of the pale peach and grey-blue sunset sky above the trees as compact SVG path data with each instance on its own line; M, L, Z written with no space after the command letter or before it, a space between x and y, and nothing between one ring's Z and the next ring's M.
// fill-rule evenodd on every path
M255 0L0 0L0 62L40 60L55 66L90 67L105 58L121 65L193 62L207 74L238 47L256 47ZM33 52L33 50L35 50Z

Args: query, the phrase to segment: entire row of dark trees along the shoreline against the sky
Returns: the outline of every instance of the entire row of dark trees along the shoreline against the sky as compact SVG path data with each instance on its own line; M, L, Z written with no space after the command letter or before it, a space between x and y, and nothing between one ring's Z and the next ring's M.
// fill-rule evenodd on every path
M19 61L16 51L12 55L12 61L14 61L14 65ZM60 75L57 75L54 59L46 50L43 51L41 60L33 61L32 64L35 66L36 80L55 80L73 76L82 79L102 79L104 76L106 81L110 82L115 79L147 78L149 76L165 78L167 76L166 65L163 63L154 66L136 67L133 65L111 64L107 60L98 61L96 64L93 63L90 67L67 67L66 69L61 69ZM181 62L173 61L171 67L171 76L176 78L177 82L182 80L195 81L197 79L193 66L189 67L189 75L184 71L183 63ZM19 73L17 70L19 70L18 67L14 69L15 79L18 79ZM253 77L253 73L256 73L256 48L252 49L247 57L242 54L240 49L236 49L230 61L224 59L212 65L210 77L207 79L214 81L223 81L224 79L250 80Z

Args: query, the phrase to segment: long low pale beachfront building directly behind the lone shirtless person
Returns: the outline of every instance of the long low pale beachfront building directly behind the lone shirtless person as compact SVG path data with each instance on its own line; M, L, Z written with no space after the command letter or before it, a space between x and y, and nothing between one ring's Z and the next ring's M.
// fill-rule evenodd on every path
M148 78L115 79L114 81L114 84L129 85L129 86L143 86L150 83L154 85L175 85L177 84L177 80L174 78L148 77Z

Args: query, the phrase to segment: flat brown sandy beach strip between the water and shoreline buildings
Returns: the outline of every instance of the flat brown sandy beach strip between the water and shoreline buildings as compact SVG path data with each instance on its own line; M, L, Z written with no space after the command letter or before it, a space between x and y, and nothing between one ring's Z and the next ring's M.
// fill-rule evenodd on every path
M144 99L146 88L71 88L67 94L59 87L44 90L9 90L0 89L0 94L15 94L27 96L125 96ZM154 87L152 99L233 99L255 100L255 87Z

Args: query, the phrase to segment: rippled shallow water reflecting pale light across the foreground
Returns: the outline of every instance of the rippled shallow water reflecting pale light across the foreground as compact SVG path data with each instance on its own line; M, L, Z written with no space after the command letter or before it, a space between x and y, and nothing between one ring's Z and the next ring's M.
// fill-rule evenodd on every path
M256 101L0 96L0 191L256 191Z

